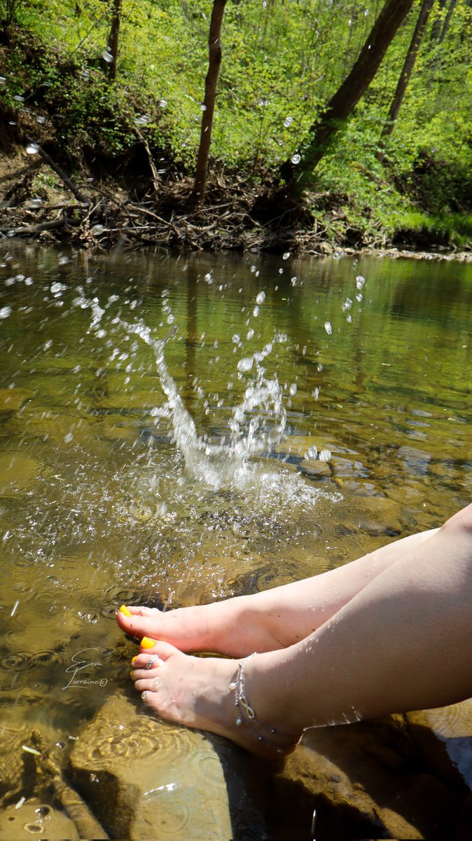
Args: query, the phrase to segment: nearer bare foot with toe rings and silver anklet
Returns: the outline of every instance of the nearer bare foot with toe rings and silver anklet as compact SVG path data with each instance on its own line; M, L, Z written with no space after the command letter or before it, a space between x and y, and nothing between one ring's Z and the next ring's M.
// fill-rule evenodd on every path
M133 659L134 686L160 717L218 733L266 759L281 759L295 749L298 735L281 733L278 722L251 721L236 706L239 661L189 657L169 643L146 637L143 642Z

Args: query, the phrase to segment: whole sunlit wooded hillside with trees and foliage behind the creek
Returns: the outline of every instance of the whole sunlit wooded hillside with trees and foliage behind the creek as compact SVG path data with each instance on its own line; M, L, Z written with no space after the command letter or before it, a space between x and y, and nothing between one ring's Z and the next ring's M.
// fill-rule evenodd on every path
M220 229L223 246L257 239L225 241L223 211L271 225L272 246L294 227L340 245L471 245L472 0L0 0L0 21L0 149L31 154L9 209L47 202L68 173L79 203L114 179L165 225L211 225L213 247Z

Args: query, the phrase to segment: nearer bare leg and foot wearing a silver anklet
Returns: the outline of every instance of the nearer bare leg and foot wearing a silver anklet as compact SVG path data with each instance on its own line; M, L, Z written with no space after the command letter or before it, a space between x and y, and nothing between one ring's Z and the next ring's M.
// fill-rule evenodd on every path
M472 694L471 628L469 505L302 642L248 660L244 690L259 721L288 734L450 704ZM147 670L149 654L158 659ZM289 737L284 743L275 734L270 747L254 729L236 726L229 683L238 661L192 658L155 643L136 665L136 689L162 717L223 733L266 756L277 745L291 749Z

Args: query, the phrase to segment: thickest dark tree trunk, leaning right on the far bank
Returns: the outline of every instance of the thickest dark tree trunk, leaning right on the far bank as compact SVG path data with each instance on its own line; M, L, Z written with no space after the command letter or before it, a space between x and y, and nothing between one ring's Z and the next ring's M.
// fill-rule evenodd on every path
M301 196L313 170L328 151L340 124L352 114L355 105L370 86L412 4L413 0L386 0L349 76L329 100L323 114L312 124L309 140L302 152L302 166L296 172L291 161L283 165L282 171L290 175L287 190L292 198Z

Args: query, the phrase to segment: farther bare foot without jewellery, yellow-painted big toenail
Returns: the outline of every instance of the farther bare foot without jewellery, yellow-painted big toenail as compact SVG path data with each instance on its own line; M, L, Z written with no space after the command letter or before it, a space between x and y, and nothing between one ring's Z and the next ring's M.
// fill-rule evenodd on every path
M181 651L208 651L245 657L251 652L281 648L256 611L247 615L247 600L236 598L211 605L160 611L154 607L121 606L119 627L132 637L164 640Z

